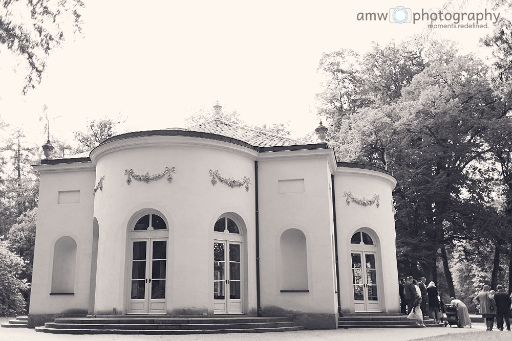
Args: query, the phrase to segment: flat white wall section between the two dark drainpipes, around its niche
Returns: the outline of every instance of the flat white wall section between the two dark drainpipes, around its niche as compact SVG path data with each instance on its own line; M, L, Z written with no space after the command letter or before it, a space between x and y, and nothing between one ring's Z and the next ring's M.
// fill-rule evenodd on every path
M298 157L299 155L303 157ZM326 155L260 155L260 287L262 312L337 312ZM294 158L289 158L294 155ZM304 192L279 193L279 181L304 179ZM280 237L301 230L307 240L309 292L282 292Z

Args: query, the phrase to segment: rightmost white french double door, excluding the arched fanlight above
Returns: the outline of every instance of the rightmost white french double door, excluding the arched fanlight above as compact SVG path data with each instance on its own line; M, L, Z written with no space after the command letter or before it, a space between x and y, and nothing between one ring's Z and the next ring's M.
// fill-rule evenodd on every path
M379 312L377 254L375 252L352 251L351 256L355 312Z

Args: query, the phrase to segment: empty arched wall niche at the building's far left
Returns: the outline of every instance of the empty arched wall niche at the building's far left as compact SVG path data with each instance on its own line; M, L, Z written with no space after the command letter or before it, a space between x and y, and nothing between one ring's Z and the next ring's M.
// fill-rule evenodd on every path
M76 242L70 236L60 237L53 248L51 293L74 293Z

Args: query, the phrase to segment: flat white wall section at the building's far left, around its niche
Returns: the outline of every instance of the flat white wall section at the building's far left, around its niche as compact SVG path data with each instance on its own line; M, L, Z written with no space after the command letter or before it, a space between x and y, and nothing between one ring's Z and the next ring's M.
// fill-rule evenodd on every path
M94 167L91 163L35 166L40 172L30 314L87 313L92 252ZM59 191L80 191L80 201L58 203ZM61 200L63 201L63 200ZM55 242L76 242L73 295L50 295Z

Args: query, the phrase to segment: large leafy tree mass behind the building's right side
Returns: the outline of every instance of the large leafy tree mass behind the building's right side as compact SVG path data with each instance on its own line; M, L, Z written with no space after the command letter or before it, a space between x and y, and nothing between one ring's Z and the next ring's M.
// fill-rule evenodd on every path
M353 62L347 51L324 55L319 112L328 118L338 157L388 167L397 179L400 274L437 281L441 259L442 280L455 295L451 253L461 243L490 245L474 251L496 255L497 279L510 229L495 204L500 169L493 151L509 157L505 136L512 125L504 115L506 92L489 82L482 61L452 44L414 45L375 46ZM489 223L479 229L482 219Z

